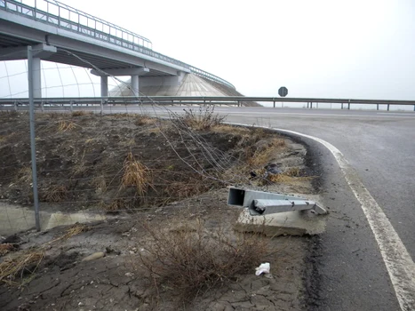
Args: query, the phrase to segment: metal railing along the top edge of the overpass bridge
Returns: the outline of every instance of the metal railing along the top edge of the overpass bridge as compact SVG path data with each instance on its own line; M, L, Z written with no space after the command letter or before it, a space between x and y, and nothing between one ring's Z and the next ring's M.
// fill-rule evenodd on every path
M31 2L34 5L24 4ZM91 14L79 11L67 4L56 0L0 0L0 10L12 12L31 20L44 22L46 24L76 32L83 36L90 36L94 39L115 44L134 52L140 52L158 60L164 60L171 64L187 68L192 74L203 76L211 81L225 84L235 89L225 79L212 75L202 69L193 67L180 60L172 59L162 53L152 50L152 43L148 38L137 35L132 31L121 28L106 20L94 17Z

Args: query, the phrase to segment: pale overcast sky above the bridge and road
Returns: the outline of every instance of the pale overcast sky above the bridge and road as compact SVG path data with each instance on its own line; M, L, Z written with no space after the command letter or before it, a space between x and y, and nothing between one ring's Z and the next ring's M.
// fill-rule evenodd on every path
M61 1L247 96L415 99L413 0Z

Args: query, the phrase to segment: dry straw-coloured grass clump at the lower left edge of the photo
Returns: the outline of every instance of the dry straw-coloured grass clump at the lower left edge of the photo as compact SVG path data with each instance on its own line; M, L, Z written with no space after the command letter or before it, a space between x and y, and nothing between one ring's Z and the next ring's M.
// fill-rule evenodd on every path
M0 282L8 285L19 285L16 279L25 275L33 275L44 259L44 251L27 251L14 259L5 259L0 263Z

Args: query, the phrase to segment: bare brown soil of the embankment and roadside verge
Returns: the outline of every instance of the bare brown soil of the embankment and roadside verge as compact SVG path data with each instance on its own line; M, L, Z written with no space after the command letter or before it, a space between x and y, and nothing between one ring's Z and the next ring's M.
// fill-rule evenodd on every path
M224 125L189 129L181 121L131 115L36 116L41 208L107 213L108 219L76 224L82 231L73 235L68 229L76 227L65 226L4 239L14 248L0 257L0 264L36 250L44 257L14 278L0 278L1 310L307 307L307 236L269 239L261 262L271 264L271 275L257 276L251 267L185 300L178 299L177 289L162 286L156 292L150 286L140 267L140 252L148 239L143 223L160 230L196 220L211 232L232 228L240 210L227 206L228 185L315 193L303 146L263 130ZM130 153L134 163L149 172L141 192L137 184L124 182ZM22 206L32 203L27 114L0 114L0 154L1 198ZM260 176L268 162L277 163L287 178L264 182ZM83 261L96 252L104 256Z

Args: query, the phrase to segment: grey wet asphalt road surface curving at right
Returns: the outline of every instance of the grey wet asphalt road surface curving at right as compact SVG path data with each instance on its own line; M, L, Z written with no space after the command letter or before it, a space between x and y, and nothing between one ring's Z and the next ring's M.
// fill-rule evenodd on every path
M338 148L395 228L413 266L415 113L292 108L216 108L215 111L226 114L228 122L301 132ZM299 140L310 147L311 164L322 173L323 203L331 211L327 231L313 239L307 260L310 308L415 310L415 304L400 306L396 299L396 287L388 275L379 243L339 163L320 143ZM399 277L395 282L400 282Z

